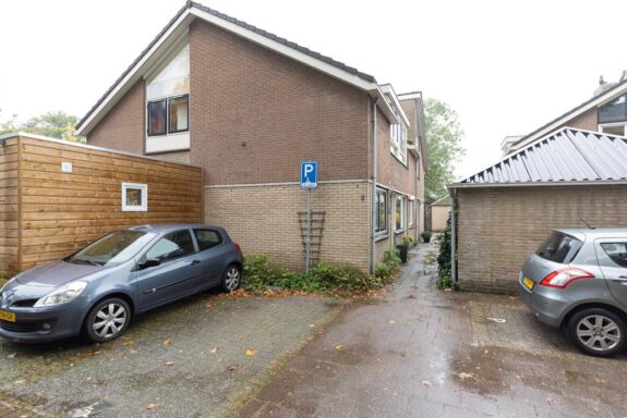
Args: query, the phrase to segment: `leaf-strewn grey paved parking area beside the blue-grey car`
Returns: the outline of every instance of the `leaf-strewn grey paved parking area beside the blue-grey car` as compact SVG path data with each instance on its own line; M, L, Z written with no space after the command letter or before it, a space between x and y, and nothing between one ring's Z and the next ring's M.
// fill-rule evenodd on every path
M224 417L340 309L321 297L203 294L101 346L0 342L0 417Z

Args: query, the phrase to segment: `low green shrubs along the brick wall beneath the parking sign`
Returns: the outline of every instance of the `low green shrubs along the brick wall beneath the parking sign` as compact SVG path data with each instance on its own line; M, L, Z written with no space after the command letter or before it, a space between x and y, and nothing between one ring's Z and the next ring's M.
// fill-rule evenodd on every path
M262 254L246 255L242 285L245 290L263 293L277 286L310 293L353 294L382 287L378 276L363 274L354 266L315 262L309 273L280 269Z

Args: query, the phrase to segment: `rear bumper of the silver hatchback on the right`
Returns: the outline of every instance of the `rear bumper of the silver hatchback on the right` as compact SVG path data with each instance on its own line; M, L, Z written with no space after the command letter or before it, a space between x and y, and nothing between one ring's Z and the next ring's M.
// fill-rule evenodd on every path
M529 290L522 283L522 274L518 279L518 294L527 308L548 327L559 328L568 312L571 302L566 300L559 291L535 284Z

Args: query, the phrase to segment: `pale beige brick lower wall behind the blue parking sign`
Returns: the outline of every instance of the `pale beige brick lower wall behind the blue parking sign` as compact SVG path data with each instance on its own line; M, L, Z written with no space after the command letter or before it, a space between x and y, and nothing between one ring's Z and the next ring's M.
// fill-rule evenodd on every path
M225 226L244 253L265 253L282 267L304 268L298 212L306 210L300 185L206 187L205 222ZM322 260L370 269L367 182L325 183L312 209L326 211Z

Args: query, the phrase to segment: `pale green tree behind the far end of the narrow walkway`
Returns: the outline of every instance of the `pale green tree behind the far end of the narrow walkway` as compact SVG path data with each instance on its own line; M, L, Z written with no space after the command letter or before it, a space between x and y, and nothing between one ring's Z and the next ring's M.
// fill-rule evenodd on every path
M426 151L429 170L424 179L425 199L431 204L447 194L446 185L453 182L454 163L465 155L461 146L463 130L457 112L437 99L424 101Z

